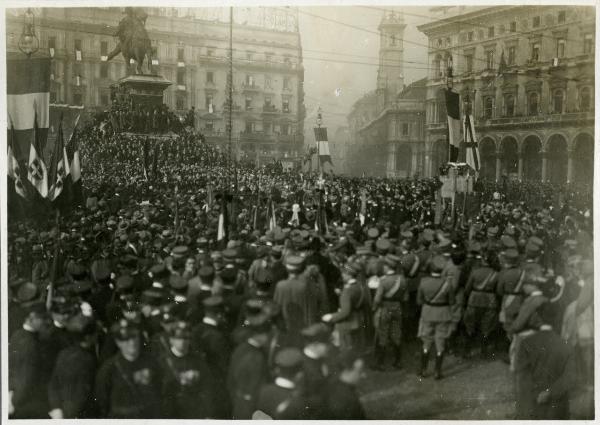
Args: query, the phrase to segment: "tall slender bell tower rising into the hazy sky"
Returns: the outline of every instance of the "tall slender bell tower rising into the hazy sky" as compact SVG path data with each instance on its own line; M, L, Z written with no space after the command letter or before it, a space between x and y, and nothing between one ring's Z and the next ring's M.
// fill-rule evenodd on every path
M379 69L377 70L377 109L389 107L404 88L404 16L384 12L379 24Z

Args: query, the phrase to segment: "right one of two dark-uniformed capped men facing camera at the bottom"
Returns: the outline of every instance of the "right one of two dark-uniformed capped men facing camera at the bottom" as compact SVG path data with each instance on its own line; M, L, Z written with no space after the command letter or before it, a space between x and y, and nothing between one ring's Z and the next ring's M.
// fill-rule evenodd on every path
M190 325L174 323L168 331L167 347L159 357L163 415L169 419L215 418L216 381L204 359L190 349L190 344Z

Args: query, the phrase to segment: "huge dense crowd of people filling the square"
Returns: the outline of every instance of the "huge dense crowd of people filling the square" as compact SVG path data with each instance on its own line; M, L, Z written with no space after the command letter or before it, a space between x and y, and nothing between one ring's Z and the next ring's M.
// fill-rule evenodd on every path
M85 205L9 217L12 418L364 419L366 369L449 352L503 358L518 419L593 384L589 188L481 181L460 217L435 178L80 137Z

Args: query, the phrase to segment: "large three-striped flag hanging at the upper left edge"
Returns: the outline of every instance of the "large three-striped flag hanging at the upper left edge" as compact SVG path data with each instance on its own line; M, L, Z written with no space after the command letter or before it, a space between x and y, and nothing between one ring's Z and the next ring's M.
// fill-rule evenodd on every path
M29 165L31 145L36 144L41 155L48 138L50 58L9 54L6 80L6 108L15 130L13 155L19 164Z

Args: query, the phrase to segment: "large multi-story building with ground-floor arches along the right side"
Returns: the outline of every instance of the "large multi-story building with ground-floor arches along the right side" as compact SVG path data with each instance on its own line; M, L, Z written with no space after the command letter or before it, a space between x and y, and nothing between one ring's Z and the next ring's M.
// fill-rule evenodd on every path
M485 177L591 182L593 7L435 12L443 16L418 27L429 39L426 175L437 174L448 157L444 89L450 83L463 110L474 114Z

